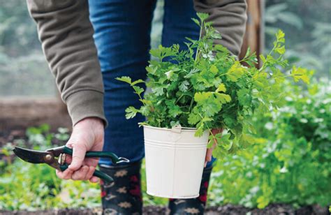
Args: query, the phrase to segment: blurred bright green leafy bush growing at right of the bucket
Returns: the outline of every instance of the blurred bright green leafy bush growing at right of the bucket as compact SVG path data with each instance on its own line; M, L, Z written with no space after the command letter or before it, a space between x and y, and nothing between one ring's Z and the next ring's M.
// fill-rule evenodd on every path
M330 86L329 80L318 80L304 91L288 84L285 107L256 114L256 144L218 162L210 204L330 204Z

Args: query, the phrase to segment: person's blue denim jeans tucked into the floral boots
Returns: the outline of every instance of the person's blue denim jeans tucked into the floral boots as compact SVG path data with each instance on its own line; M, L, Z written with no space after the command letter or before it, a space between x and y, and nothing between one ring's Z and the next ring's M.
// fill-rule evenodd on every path
M133 89L115 77L146 79L155 5L156 0L89 0L90 20L105 88L105 117L109 122L105 128L103 150L126 157L131 162L140 161L145 156L144 135L142 128L138 127L138 122L145 118L138 115L125 119L126 107L138 108L141 103ZM162 45L178 43L184 48L185 37L198 39L200 29L191 17L196 17L192 0L165 0ZM100 163L111 165L111 161L104 158Z

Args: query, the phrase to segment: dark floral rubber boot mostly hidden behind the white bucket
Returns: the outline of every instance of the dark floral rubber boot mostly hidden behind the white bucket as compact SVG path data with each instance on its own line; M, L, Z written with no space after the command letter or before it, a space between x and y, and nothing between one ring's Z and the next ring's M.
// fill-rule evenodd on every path
M200 195L198 198L189 199L170 199L169 209L170 214L203 214L207 201L207 191L209 185L212 166L203 170L203 179L200 184Z

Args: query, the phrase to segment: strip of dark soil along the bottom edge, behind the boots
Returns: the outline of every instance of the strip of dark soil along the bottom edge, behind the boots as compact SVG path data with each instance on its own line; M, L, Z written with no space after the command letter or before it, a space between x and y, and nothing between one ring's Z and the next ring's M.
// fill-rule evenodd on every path
M36 211L36 212L4 212L0 211L1 215L92 215L102 214L100 208L95 209L54 209L48 211ZM143 214L157 215L168 214L166 207L147 206L144 207ZM329 215L328 208L319 207L318 205L305 206L299 209L294 209L290 205L274 204L265 207L265 209L249 209L247 207L238 205L223 205L219 207L208 207L205 211L205 215Z

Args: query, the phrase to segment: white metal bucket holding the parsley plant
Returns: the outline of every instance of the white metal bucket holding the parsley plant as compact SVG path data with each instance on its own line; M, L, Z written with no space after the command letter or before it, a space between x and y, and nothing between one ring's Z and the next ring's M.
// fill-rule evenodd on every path
M203 175L208 132L194 128L144 126L147 193L163 198L196 198Z

